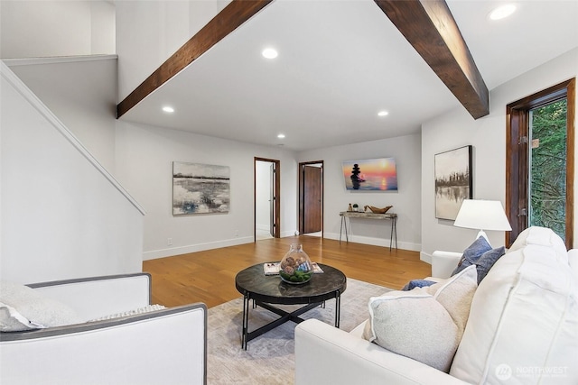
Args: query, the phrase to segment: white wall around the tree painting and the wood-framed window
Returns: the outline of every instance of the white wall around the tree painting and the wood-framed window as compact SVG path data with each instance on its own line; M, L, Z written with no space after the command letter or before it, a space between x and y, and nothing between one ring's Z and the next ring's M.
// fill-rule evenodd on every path
M435 250L463 251L477 231L453 227L435 219L433 156L467 144L473 145L473 197L506 199L506 105L554 86L578 74L578 50L551 60L490 91L490 114L474 121L462 108L422 125L422 259ZM574 167L574 170L578 170ZM576 179L576 177L574 177ZM574 188L574 193L578 190ZM578 202L578 195L574 197ZM574 205L574 218L576 218ZM574 234L577 233L574 220ZM504 244L503 232L488 232L494 246ZM574 247L578 239L574 239Z

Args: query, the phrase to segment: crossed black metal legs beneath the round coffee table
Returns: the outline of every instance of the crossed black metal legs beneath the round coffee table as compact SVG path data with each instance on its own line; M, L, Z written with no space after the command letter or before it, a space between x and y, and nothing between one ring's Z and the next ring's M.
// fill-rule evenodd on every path
M325 307L325 301L316 302L316 303L308 304L304 307L299 307L298 309L296 309L290 313L290 312L285 311L282 308L274 307L271 304L267 304L265 302L261 302L261 301L257 301L255 299L253 299L253 307L254 308L257 306L263 307L263 308L269 310L270 312L275 313L276 315L278 315L280 317L275 319L275 321L272 321L266 325L263 325L263 326L257 328L256 330L253 330L252 332L249 332L248 329L249 329L249 307L250 307L250 304L251 304L250 293L245 293L245 295L243 296L243 335L241 336L241 347L244 350L247 350L247 343L249 341L255 339L256 337L258 337L259 335L264 335L269 330L274 329L278 325L283 325L287 321L293 321L295 324L299 324L299 323L304 321L304 319L300 317L303 313L306 313L309 310L311 310L312 308L315 308L318 306ZM335 295L335 327L340 327L340 304L341 304L340 292L337 291L336 295Z

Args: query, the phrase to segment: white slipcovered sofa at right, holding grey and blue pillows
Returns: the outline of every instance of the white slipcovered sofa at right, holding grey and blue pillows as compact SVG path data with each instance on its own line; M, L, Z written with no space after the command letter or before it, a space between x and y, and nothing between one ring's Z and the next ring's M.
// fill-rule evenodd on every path
M455 267L460 254L443 258ZM312 319L295 329L295 384L578 384L578 252L567 252L551 230L530 227L474 290L448 372L368 342L365 323L346 333ZM409 325L431 316L412 314ZM436 354L435 346L424 349Z

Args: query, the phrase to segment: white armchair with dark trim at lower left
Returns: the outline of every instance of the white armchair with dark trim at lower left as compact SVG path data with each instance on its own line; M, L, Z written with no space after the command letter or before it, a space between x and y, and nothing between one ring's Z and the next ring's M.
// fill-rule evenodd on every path
M3 288L1 327L26 322L18 307L54 326L0 333L2 384L206 383L207 307L150 307L149 274Z

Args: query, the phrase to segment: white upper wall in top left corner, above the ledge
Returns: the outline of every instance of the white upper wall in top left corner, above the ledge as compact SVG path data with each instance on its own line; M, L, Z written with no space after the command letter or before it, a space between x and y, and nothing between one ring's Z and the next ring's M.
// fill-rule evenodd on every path
M0 59L115 53L107 1L0 1Z

